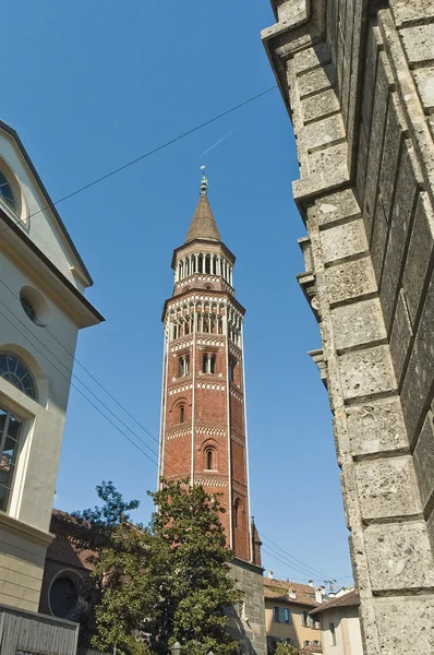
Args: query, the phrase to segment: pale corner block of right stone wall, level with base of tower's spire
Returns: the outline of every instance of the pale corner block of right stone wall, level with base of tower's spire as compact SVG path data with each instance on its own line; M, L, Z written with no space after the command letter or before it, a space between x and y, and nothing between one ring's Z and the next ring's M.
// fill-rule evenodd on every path
M321 233L324 262L335 262L367 252L367 241L361 219L329 227Z

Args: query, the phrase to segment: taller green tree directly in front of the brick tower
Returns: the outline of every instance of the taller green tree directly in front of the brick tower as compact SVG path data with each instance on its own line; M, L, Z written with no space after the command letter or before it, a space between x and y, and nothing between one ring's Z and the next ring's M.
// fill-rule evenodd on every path
M226 631L225 607L240 594L228 575L233 553L225 546L218 497L186 480L149 492L156 511L150 522L145 585L153 597L145 617L153 648L167 655L180 642L188 655L229 655L237 641Z

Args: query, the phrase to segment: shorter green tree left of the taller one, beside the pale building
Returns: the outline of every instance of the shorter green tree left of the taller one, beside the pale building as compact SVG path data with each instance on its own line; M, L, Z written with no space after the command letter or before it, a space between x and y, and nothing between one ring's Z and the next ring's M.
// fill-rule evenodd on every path
M143 575L149 535L131 520L137 500L125 502L112 483L97 488L101 507L74 514L82 526L79 548L88 550L94 585L85 581L81 595L88 611L77 617L85 632L93 631L97 648L117 647L119 654L144 655L145 642L137 639L150 598Z

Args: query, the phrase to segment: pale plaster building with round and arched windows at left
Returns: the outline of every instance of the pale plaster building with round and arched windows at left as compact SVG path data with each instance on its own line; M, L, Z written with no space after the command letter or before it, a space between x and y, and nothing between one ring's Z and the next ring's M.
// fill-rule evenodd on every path
M92 278L0 122L0 604L38 609L77 332Z

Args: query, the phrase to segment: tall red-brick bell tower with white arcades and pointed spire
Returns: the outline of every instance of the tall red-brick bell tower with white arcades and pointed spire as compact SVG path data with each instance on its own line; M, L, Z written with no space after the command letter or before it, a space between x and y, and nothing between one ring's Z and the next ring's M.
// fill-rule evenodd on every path
M203 172L185 241L173 252L174 288L162 312L159 474L219 493L227 545L236 558L261 565L249 519L245 310L233 288L236 258L220 238L207 189Z

